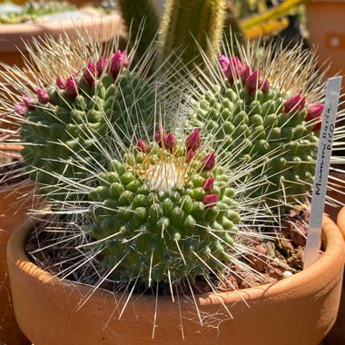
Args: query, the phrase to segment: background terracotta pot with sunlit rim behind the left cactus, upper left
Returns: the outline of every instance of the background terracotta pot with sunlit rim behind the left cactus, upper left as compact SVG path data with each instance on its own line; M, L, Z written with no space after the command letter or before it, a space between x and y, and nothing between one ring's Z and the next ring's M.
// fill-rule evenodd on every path
M47 22L39 24L6 24L0 25L0 60L5 64L23 66L23 56L18 49L25 54L25 43L31 43L45 34L56 38L66 33L71 39L76 36L75 27L83 28L88 34L97 34L100 42L106 42L115 34L123 34L122 21L118 13L102 15L102 17L90 16L83 21L69 20L64 22Z

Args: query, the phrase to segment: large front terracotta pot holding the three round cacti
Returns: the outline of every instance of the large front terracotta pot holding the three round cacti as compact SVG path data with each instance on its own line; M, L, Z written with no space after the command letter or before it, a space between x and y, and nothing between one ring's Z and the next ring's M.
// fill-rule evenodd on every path
M200 311L214 315L205 323L215 320L218 328L200 326L191 301L181 297L179 306L171 297L160 296L154 340L154 296L133 295L121 320L119 312L126 302L121 294L99 289L78 309L90 288L59 281L29 261L23 248L32 230L28 222L13 233L7 263L18 323L35 345L315 345L330 330L338 311L345 250L338 227L328 218L323 223L327 250L306 271L261 287L218 294L232 320L220 315L222 304L215 294L197 295Z

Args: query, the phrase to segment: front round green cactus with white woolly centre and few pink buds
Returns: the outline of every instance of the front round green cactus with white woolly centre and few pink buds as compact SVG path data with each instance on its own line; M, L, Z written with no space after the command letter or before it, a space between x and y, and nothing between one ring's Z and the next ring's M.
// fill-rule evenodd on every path
M224 271L240 221L229 177L207 166L213 153L197 150L188 162L182 143L144 151L113 161L90 193L98 203L91 233L104 246L104 265L147 285Z

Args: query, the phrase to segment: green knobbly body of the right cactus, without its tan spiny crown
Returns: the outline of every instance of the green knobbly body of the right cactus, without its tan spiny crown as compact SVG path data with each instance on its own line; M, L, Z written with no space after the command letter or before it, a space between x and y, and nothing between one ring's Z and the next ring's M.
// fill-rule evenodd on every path
M304 97L270 87L237 58L222 56L221 64L227 78L198 100L192 126L213 133L214 145L222 145L233 168L264 160L250 174L267 183L251 196L263 195L271 205L304 200L311 190L318 143L318 133L305 121L309 111Z

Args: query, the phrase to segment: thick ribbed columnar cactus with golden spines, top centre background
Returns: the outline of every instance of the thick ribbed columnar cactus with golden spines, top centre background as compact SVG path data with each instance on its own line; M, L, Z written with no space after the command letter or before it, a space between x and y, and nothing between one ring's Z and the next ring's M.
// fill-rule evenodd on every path
M167 0L159 34L159 63L177 53L184 64L201 65L198 45L211 59L212 49L217 51L221 45L226 5L226 0Z

